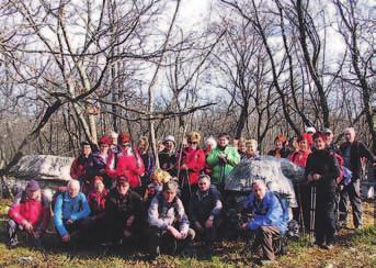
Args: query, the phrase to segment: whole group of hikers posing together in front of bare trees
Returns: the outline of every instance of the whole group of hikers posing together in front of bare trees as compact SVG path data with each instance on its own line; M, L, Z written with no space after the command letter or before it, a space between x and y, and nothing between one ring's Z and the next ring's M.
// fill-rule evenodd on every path
M333 247L338 227L345 226L349 198L354 226L362 227L362 161L376 163L367 147L355 139L353 127L344 130L344 138L337 146L331 130L307 127L290 144L278 135L275 148L267 153L305 168L294 217L304 217L300 222L308 226L312 221L307 216L309 206L315 205L316 244L327 249ZM39 245L53 219L62 244L79 239L118 246L147 241L150 255L157 256L192 248L193 241L202 241L212 254L227 209L225 179L240 161L258 159L260 153L255 139L241 138L230 145L226 133L217 141L207 138L203 147L201 142L200 133L191 132L178 148L174 137L167 135L158 143L158 169L145 136L136 145L125 132L112 132L98 145L83 142L71 165L72 179L56 189L53 200L42 193L34 179L15 197L9 210L9 246L18 244L19 231ZM242 209L251 215L233 227L243 237L255 235L253 246L261 260L274 260L277 249L273 243L287 228L281 200L260 179L253 181Z

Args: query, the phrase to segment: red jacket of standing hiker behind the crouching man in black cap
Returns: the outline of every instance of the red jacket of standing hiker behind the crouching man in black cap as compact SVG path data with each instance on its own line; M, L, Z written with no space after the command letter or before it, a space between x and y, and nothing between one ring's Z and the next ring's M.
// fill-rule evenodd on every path
M137 149L125 148L117 154L117 161L115 167L115 154L110 153L106 164L106 174L113 180L118 176L126 176L129 180L132 189L139 187L140 176L145 172L145 166L143 158L138 154Z

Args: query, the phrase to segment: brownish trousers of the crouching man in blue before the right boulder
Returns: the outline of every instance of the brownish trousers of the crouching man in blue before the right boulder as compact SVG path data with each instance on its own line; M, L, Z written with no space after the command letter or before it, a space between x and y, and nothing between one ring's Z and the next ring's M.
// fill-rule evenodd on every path
M254 247L261 259L275 259L277 248L274 248L273 241L281 238L281 230L277 226L261 226L255 231Z

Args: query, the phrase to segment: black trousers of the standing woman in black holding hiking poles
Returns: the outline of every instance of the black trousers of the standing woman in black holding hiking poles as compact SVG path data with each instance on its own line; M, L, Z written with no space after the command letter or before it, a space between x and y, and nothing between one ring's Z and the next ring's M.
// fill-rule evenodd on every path
M321 192L316 197L315 235L319 244L332 244L335 233L335 191Z

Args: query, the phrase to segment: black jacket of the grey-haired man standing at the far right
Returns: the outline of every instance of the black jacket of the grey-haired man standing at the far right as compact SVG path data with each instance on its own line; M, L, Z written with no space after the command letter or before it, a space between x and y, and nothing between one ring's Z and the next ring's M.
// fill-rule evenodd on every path
M371 150L361 142L354 141L353 143L345 142L341 144L340 150L342 156L346 148L350 147L350 170L353 172L352 180L361 178L361 157L366 157L369 161L375 163L376 158Z

